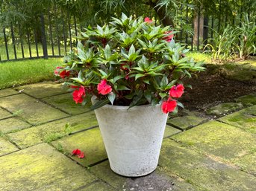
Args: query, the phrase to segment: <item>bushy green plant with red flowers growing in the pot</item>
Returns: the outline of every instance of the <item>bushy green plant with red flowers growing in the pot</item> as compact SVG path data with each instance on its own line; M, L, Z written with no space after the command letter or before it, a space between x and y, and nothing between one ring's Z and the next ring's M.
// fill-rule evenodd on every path
M175 98L184 93L182 80L203 71L189 51L175 43L169 27L155 26L149 19L121 19L81 33L77 49L64 58L55 74L72 88L75 103L99 100L93 109L107 103L118 106L162 104L164 113L182 106Z

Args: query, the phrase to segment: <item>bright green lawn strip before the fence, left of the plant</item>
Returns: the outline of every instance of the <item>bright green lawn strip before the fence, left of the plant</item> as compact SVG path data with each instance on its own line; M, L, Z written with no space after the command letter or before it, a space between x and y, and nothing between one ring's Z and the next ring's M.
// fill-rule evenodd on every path
M0 89L54 79L54 68L62 59L31 59L0 62Z

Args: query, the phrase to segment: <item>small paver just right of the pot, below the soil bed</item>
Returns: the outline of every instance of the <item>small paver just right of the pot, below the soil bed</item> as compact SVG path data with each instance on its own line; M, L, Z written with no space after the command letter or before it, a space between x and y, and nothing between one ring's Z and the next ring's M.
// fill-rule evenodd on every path
M190 129L193 126L197 126L199 125L199 123L202 123L204 121L204 118L188 115L184 117L175 117L173 119L167 120L167 124L185 130Z

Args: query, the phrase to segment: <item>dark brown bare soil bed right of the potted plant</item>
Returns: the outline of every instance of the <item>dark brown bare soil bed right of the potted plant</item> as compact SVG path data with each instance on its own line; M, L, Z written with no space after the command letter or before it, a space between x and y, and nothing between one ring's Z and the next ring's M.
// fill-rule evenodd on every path
M187 80L186 84L192 85L193 89L187 88L180 101L190 111L205 111L219 103L234 102L237 97L256 92L255 82L228 80L208 72Z

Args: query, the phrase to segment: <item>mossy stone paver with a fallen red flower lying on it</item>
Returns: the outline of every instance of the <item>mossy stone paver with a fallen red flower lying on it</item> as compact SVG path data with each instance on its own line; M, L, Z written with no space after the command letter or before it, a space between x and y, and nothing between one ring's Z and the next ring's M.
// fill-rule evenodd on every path
M99 128L79 132L75 135L63 137L60 140L52 142L52 144L63 152L66 152L75 161L83 166L89 166L96 162L107 158L107 153L104 149L104 143L100 134ZM72 150L80 149L85 153L85 158L71 156Z

